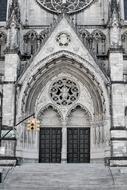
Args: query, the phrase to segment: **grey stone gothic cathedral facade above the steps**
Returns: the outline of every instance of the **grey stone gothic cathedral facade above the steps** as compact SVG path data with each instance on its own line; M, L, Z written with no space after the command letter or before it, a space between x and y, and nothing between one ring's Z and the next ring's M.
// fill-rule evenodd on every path
M4 156L127 165L126 19L126 0L0 0Z

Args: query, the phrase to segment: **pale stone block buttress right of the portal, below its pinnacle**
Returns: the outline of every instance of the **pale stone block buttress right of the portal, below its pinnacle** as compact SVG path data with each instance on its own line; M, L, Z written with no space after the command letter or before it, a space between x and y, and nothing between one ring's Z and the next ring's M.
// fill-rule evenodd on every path
M127 130L125 127L125 84L122 49L111 49L111 161L110 165L127 165Z

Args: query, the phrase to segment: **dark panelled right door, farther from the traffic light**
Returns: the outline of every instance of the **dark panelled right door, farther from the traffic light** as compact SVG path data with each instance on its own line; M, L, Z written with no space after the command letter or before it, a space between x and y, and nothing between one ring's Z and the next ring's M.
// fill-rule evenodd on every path
M67 162L90 162L90 128L67 129Z

